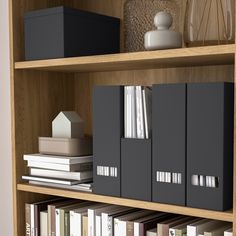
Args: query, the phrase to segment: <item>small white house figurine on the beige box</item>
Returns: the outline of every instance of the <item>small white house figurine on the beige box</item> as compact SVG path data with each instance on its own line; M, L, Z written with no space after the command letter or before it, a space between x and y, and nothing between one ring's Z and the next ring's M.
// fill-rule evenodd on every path
M75 111L61 111L52 122L53 138L83 138L84 121Z

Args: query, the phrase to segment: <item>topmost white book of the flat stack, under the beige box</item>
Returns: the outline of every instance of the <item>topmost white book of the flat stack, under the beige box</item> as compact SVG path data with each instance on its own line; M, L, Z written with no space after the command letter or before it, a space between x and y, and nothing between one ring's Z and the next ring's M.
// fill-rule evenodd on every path
M43 155L43 154L25 154L25 161L37 161L37 162L45 162L45 163L57 163L64 165L73 165L78 163L91 162L93 156L53 156L53 155Z

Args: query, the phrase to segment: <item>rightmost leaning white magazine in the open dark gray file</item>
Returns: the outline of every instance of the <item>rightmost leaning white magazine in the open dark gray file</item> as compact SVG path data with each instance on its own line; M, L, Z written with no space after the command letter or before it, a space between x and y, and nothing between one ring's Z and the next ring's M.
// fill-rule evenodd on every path
M143 96L145 138L148 139L151 136L152 90L149 87L144 87L142 89L142 96Z

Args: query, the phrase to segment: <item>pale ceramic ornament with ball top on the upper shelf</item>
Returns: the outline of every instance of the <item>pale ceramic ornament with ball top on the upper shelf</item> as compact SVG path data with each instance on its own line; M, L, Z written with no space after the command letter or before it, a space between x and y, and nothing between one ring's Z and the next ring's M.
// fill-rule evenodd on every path
M157 30L149 31L144 36L144 46L147 50L171 49L182 47L182 35L170 30L173 22L172 16L164 11L158 12L154 17Z

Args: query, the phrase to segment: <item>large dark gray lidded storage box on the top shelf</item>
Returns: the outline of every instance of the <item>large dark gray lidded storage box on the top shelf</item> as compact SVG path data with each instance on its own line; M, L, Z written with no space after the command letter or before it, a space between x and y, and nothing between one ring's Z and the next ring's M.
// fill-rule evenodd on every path
M63 6L27 12L25 59L118 53L120 20Z

